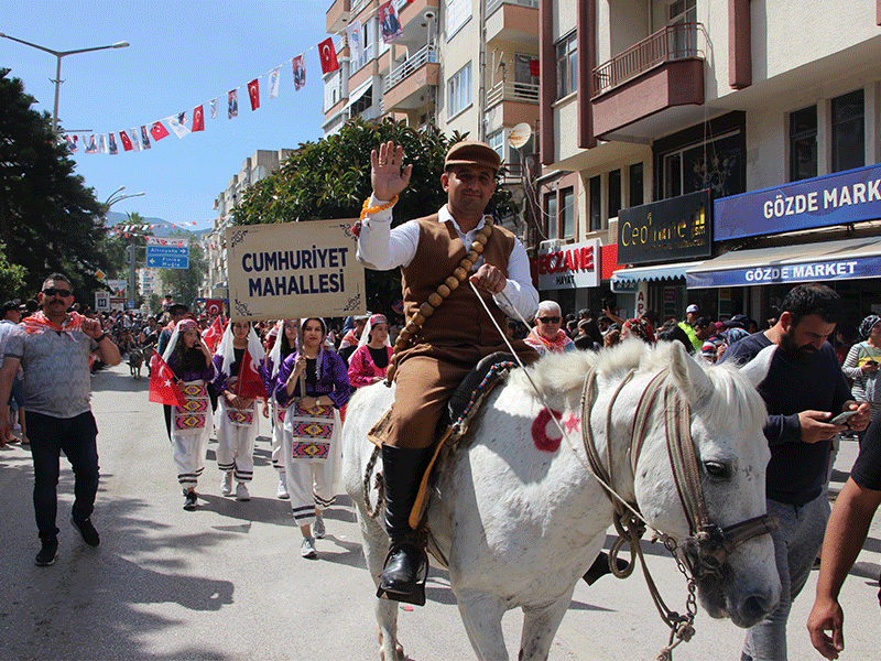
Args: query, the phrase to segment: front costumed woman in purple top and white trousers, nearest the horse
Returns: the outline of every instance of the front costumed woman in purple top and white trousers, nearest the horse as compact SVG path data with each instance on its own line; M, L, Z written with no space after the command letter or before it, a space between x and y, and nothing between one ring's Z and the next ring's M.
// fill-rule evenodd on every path
M287 409L283 453L303 557L317 556L313 522L315 537L325 535L322 510L334 503L339 466L339 408L351 394L346 362L324 348L326 335L324 319L303 319L297 351L285 358L275 379L275 399Z

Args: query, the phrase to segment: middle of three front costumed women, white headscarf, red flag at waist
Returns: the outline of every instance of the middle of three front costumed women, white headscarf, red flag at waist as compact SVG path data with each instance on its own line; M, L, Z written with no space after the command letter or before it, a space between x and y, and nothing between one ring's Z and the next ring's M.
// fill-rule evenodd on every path
M248 322L231 322L224 332L224 339L214 356L217 378L214 381L218 394L217 405L217 467L224 472L220 492L232 494L232 478L237 500L250 500L248 483L254 474L254 441L258 433L257 407L254 401L263 399L254 392L242 391L246 372L258 377L263 361L263 345ZM244 358L248 358L244 362ZM251 381L248 381L249 390ZM269 416L264 409L263 414Z

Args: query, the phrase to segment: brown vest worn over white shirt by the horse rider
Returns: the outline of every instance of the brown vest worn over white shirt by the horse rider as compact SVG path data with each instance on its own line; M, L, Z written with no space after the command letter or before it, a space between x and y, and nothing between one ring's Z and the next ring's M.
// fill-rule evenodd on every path
M401 269L407 321L437 290L437 285L449 278L468 252L453 223L439 223L437 214L415 223L420 225L416 254L407 267ZM507 278L508 260L515 245L513 234L499 226L493 227L482 252L483 261L498 268ZM486 290L478 291L505 336L510 337L508 319L492 295ZM425 321L415 344L422 342L437 346L493 346L501 344L502 339L466 279Z

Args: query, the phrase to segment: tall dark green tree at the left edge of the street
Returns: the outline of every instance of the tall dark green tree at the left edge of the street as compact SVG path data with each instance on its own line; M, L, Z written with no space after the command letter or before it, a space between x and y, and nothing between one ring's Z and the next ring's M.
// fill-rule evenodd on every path
M90 304L101 289L94 273L107 261L102 205L84 180L66 145L52 132L47 112L31 106L19 78L0 68L0 241L13 264L23 267L24 288L33 295L52 271L65 273L77 299Z

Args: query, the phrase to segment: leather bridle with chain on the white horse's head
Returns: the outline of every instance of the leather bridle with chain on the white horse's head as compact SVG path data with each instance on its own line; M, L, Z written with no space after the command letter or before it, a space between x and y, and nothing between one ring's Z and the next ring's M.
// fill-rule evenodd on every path
M672 649L682 640L689 640L694 635L694 617L697 613L695 604L695 588L697 582L707 577L716 576L721 578L722 565L728 556L744 542L769 534L777 529L775 518L768 514L754 517L740 523L735 523L726 528L719 528L709 520L707 503L704 498L704 489L700 481L700 469L695 455L694 441L690 430L690 409L688 402L679 392L678 388L668 383L666 377L668 368L656 373L640 397L637 412L633 416L631 426L631 446L629 448L630 465L633 475L637 475L637 465L645 442L649 427L649 419L655 403L663 398L664 420L667 454L673 468L673 477L676 484L676 491L679 497L685 518L688 522L688 537L682 540L682 557L676 553L676 541L668 535L664 535L664 545L671 551L676 560L679 571L688 581L688 604L687 614L679 615L670 610L661 599L657 588L652 581L648 565L642 557L640 538L645 532L646 522L639 513L635 502L626 502L616 492L614 477L611 470L611 413L618 395L624 386L633 378L635 369L631 369L624 379L618 384L611 399L606 415L606 454L609 460L609 469L602 465L596 444L594 442L594 431L590 425L590 412L597 399L597 370L591 368L585 377L581 390L581 440L587 453L590 468L600 478L602 488L609 500L614 507L614 527L619 538L616 540L609 553L609 568L619 578L629 576L633 571L631 562L627 570L620 571L617 566L617 556L624 543L630 545L631 556L639 556L643 574L645 575L649 590L661 614L662 619L671 628L671 646L662 654L672 657ZM608 487L607 487L608 485ZM683 565L685 562L685 566ZM678 640L673 643L673 639Z

